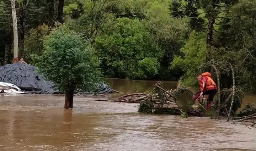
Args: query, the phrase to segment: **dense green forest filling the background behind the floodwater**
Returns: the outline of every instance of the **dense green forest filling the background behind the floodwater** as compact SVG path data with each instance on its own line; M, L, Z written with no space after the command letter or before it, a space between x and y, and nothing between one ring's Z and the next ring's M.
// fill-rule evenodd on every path
M106 77L195 84L211 60L233 65L236 85L256 88L255 0L17 0L18 56L35 65L57 22L90 43ZM1 64L12 63L10 0L0 1ZM220 67L221 68L221 67ZM223 87L232 85L221 72ZM225 76L224 76L225 75Z

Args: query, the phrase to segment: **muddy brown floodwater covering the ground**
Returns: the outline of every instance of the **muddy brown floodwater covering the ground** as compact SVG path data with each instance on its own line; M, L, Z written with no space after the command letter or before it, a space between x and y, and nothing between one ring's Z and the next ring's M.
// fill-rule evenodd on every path
M154 82L108 79L123 92L150 90ZM167 89L176 83L164 82ZM209 118L138 113L138 104L63 95L1 94L0 150L10 151L247 151L256 150L256 130ZM185 96L186 97L186 96ZM254 95L247 96L253 102ZM245 98L246 99L246 98ZM244 101L245 102L245 101Z

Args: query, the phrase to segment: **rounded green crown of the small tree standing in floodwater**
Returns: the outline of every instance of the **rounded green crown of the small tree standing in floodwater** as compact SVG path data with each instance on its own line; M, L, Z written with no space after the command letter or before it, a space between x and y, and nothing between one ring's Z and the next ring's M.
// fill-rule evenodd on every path
M38 72L59 90L91 90L100 80L98 61L80 33L60 26L43 38L43 46L42 55L34 55Z

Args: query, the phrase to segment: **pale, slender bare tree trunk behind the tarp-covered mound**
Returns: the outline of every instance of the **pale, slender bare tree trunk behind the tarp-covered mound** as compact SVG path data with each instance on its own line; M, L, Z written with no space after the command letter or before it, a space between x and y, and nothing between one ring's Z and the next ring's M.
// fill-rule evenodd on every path
M12 7L12 24L14 31L14 63L18 62L18 27L17 27L17 16L15 10L15 0L11 0Z

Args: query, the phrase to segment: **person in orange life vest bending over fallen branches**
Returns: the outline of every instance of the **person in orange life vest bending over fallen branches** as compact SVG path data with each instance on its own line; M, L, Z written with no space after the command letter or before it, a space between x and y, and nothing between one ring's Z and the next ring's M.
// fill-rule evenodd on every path
M208 95L207 110L209 110L211 108L211 103L213 102L213 97L217 93L217 85L211 78L211 74L209 72L198 74L197 80L200 84L201 91L197 92L196 95L193 96L193 101L200 99L202 95Z

